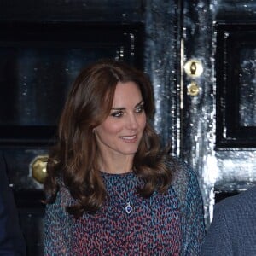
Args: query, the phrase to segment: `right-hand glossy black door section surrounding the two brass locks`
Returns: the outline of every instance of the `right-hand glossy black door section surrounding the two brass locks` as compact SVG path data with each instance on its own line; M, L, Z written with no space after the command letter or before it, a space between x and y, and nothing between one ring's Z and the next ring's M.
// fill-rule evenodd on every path
M252 1L183 2L184 62L203 64L199 78L183 77L183 158L199 173L207 225L216 201L256 182L255 10Z

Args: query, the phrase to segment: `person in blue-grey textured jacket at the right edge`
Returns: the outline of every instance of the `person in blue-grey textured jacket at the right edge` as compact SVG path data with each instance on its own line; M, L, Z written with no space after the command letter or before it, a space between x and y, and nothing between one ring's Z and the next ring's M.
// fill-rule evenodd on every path
M256 186L216 204L201 255L256 255Z

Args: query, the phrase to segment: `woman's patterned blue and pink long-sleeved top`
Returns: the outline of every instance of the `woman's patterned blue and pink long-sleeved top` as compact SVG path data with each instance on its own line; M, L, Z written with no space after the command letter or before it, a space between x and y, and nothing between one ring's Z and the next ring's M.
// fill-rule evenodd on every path
M165 194L143 199L132 172L102 172L108 200L77 220L65 212L73 199L62 185L46 207L45 255L199 255L205 230L197 178L187 166L176 175Z

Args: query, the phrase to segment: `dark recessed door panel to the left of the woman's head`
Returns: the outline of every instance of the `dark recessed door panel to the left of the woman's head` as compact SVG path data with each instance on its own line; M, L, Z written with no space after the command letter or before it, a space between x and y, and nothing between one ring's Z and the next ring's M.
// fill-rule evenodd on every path
M116 47L0 48L0 125L56 125L68 88L91 61Z

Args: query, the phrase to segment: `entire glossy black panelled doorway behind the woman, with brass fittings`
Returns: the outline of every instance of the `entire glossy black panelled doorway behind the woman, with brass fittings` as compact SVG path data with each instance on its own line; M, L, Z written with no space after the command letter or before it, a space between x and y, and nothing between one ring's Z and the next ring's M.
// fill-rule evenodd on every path
M216 201L255 182L253 2L2 1L0 146L28 255L44 254L45 157L67 91L99 58L150 76L155 128L198 173L207 224Z

